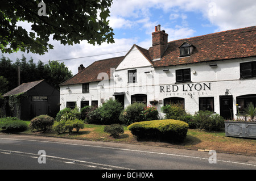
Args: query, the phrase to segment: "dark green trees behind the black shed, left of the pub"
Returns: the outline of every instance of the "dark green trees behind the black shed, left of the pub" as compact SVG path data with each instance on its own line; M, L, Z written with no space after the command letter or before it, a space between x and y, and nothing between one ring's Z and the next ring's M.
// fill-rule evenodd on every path
M18 85L18 66L20 67L20 84L44 79L55 89L59 89L60 83L72 77L72 72L68 70L63 62L48 61L48 64L44 64L39 60L35 64L33 58L30 58L27 62L27 58L24 56L12 62L9 58L2 56L0 59L0 77L5 77L5 88L8 88L4 89L2 93L10 91Z

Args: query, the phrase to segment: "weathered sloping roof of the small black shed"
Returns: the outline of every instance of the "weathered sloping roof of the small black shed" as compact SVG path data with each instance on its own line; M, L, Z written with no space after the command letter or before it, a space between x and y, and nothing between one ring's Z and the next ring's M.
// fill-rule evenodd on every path
M44 80L22 83L22 85L19 85L18 87L14 88L13 90L10 90L9 92L4 94L3 96L5 97L5 96L10 96L10 95L15 95L15 94L20 94L20 93L23 93L23 92L27 92L28 90L32 89L33 87L35 87L36 85L38 85L39 83L41 83L43 81Z

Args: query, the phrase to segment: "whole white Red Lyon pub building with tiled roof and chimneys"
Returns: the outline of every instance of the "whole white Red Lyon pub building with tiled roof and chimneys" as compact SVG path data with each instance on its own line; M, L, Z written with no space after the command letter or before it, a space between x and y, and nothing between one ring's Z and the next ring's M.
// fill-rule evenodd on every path
M155 104L159 112L179 103L192 115L209 110L233 119L256 106L256 26L168 42L159 25L151 48L134 44L125 56L80 65L60 84L60 109L109 99Z

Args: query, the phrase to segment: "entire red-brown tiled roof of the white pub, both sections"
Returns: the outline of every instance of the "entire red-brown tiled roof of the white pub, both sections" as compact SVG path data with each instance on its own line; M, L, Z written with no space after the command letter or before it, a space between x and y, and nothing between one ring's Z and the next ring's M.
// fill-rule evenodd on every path
M179 47L184 42L193 45L191 56L180 57ZM156 61L152 61L152 47L147 50L138 45L133 46L137 47L154 67L254 57L256 56L256 26L170 41L163 57ZM117 68L124 57L93 62L80 73L61 83L60 86L98 82L101 81L97 79L99 73L107 73L110 78L110 69Z

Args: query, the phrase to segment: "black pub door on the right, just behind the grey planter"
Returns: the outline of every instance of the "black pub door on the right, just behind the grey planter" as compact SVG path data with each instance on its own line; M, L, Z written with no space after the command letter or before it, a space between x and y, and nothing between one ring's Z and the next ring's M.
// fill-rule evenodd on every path
M220 115L224 119L233 119L233 96L220 96Z

